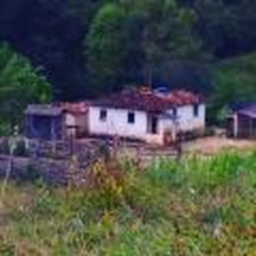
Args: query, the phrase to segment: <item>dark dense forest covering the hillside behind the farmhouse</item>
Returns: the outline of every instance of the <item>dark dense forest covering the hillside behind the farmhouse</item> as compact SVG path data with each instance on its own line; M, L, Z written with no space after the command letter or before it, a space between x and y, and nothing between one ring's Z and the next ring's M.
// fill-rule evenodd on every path
M256 98L255 11L253 0L3 0L0 42L54 101L147 84L201 91L217 109L244 88L242 100Z

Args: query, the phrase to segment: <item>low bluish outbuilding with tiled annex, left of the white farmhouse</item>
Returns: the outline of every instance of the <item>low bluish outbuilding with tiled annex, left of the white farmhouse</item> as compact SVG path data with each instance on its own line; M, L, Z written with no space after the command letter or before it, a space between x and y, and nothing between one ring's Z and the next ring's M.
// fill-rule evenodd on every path
M45 140L80 137L88 131L88 103L28 105L25 136Z

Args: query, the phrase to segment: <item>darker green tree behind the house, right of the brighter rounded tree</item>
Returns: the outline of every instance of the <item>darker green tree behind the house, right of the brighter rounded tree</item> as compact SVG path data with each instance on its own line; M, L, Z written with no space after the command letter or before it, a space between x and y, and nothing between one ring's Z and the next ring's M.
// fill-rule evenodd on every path
M193 26L192 9L180 8L175 0L141 0L133 3L141 17L145 82L153 83L154 71L172 60L197 58L201 49Z

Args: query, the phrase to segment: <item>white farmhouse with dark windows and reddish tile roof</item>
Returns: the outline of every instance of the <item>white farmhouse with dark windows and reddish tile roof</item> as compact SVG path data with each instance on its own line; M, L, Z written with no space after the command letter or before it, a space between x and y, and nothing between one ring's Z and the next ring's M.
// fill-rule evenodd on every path
M205 102L186 90L126 90L91 102L89 109L90 135L166 144L178 133L205 130Z

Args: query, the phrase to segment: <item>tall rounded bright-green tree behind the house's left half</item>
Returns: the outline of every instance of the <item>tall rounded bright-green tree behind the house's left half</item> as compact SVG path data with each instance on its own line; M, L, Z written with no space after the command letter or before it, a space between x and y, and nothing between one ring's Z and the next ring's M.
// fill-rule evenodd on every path
M99 87L98 91L118 90L122 85L120 80L125 73L129 40L125 9L118 3L104 5L92 21L85 39L88 71L92 83Z

